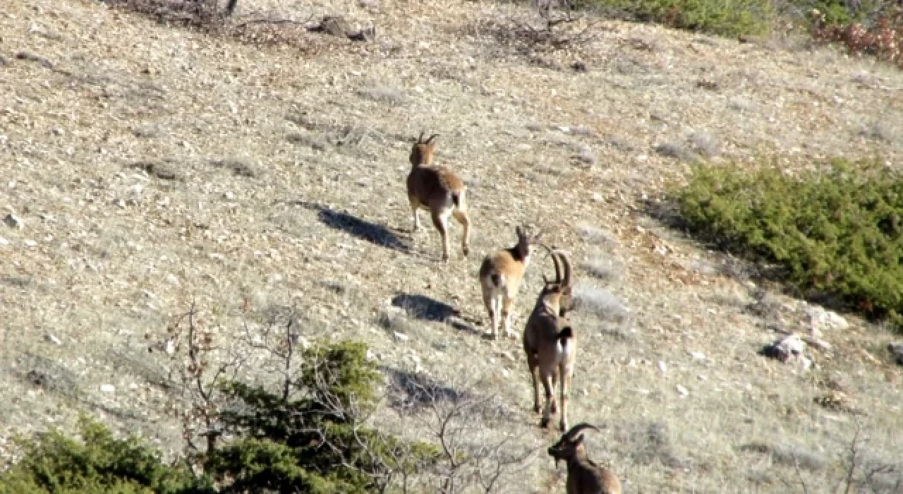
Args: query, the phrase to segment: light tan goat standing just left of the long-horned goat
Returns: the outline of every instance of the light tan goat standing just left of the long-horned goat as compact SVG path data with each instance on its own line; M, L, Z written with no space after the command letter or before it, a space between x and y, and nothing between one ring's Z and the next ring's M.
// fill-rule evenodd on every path
M541 235L537 233L530 238L526 235L526 229L521 227L514 231L517 233L517 244L486 256L479 266L479 286L483 292L483 303L489 311L492 339L498 338L499 315L505 322L505 337L515 335L511 331L511 307L517 297L517 287L530 265L530 244Z

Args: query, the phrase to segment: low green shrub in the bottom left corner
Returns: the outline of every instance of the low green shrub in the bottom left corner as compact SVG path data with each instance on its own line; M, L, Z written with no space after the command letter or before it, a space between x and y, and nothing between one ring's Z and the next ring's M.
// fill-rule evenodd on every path
M171 467L139 439L114 439L102 424L79 420L81 441L42 433L23 441L23 459L0 477L2 494L176 494L213 492L206 479Z

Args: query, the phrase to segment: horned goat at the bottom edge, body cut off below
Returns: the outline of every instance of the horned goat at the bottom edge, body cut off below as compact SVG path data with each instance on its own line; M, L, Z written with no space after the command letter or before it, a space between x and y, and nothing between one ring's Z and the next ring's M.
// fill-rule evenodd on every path
M549 456L567 461L567 494L620 494L620 480L610 470L592 462L583 444L583 429L599 429L592 424L577 424L563 433L558 443L549 448ZM579 435L578 435L579 434Z

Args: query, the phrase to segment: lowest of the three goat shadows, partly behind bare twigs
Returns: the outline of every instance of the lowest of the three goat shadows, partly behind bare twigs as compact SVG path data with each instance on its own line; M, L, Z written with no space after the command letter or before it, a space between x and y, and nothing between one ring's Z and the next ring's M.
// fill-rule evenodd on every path
M379 370L388 377L389 405L399 412L416 414L429 405L456 404L472 397L423 374L384 366Z

